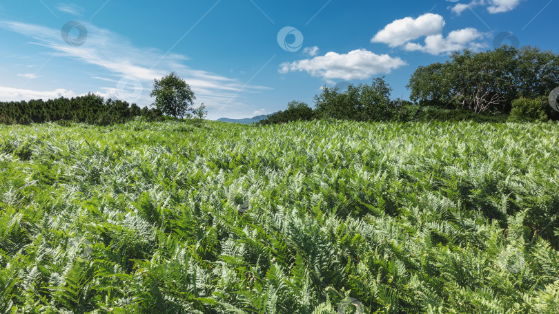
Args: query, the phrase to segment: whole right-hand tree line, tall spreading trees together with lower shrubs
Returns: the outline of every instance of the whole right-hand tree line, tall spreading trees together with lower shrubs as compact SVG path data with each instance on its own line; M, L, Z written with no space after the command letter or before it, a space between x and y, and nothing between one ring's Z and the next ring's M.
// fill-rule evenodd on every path
M559 56L539 48L503 45L496 50L454 52L444 63L418 67L406 87L410 101L391 99L382 78L347 90L323 87L315 108L293 101L260 125L336 118L355 121L559 120L548 96L559 86Z

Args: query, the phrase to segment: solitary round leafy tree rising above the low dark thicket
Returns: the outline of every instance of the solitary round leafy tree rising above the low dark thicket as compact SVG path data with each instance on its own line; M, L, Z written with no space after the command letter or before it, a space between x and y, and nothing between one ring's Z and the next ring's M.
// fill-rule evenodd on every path
M183 118L186 112L193 110L193 101L196 99L194 92L175 72L154 81L150 96L155 96L155 107L161 112L175 118Z

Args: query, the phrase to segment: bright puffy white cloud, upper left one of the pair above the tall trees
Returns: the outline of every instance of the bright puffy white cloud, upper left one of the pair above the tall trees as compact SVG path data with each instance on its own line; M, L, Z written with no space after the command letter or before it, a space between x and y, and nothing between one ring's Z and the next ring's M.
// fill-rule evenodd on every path
M427 13L417 19L405 17L386 25L375 34L371 43L386 43L396 47L423 36L440 34L443 27L444 19L439 14Z

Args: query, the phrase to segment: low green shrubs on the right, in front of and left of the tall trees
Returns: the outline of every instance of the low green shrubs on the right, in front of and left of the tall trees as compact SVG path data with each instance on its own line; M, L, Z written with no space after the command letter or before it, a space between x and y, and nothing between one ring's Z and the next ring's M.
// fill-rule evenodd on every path
M258 125L280 124L290 121L335 118L353 121L475 121L478 123L538 122L559 120L559 112L549 105L547 97L518 98L511 103L511 112L481 112L457 107L415 105L410 101L390 99L391 88L384 79L371 85L350 85L344 92L324 87L315 96L315 108L306 103L291 101L284 111L277 112Z

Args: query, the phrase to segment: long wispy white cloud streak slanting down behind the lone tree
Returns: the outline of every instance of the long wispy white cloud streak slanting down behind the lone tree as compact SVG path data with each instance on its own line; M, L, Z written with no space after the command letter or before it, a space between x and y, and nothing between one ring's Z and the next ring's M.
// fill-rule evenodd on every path
M141 83L144 92L142 92L141 99L137 102L147 105L153 102L153 98L149 97L148 92L153 85L153 80L173 71L186 79L187 83L193 88L197 101L204 102L207 107L222 107L223 103L229 103L229 107L242 107L244 104L240 101L235 99L231 101L238 93L271 89L264 86L244 86L236 79L205 70L193 69L184 64L189 59L182 54L164 54L156 48L139 48L130 43L126 37L115 32L98 28L91 23L84 23L84 26L88 30L88 36L85 43L77 47L65 43L61 39L60 30L30 23L0 21L0 28L30 37L35 45L41 45L55 52L57 58L75 59L84 63L84 65L97 65L103 70L108 70L110 75L101 79L105 83L99 85L95 92L95 94L106 98L122 98L121 92L119 93L119 88L114 82L126 78ZM126 54L122 52L126 52ZM107 85L106 83L112 84ZM6 91L6 89L3 91ZM21 95L25 93L20 92ZM35 94L50 95L57 94L57 92L35 91ZM5 98L3 94L0 94L0 96Z

